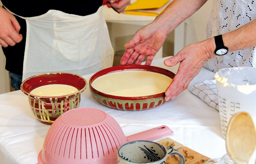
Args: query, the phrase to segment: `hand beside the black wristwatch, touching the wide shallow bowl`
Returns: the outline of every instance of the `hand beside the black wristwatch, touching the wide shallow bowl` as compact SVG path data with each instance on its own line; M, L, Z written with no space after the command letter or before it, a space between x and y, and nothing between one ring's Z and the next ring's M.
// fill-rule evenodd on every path
M186 46L175 56L164 60L164 64L172 67L180 62L178 71L173 81L165 91L165 101L175 98L187 89L189 83L200 72L204 63L216 56L213 51L213 38L206 40L208 43L199 42ZM212 42L213 41L213 42Z

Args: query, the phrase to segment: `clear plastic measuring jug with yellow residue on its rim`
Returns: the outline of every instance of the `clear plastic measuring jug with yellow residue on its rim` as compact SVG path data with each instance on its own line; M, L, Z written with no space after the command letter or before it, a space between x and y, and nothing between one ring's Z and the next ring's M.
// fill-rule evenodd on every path
M256 125L256 67L223 68L215 73L221 133L225 138L230 118L237 112L249 113Z

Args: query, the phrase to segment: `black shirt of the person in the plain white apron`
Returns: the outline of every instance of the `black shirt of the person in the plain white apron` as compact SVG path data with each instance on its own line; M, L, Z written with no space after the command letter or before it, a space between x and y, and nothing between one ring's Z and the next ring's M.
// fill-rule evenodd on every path
M35 0L2 0L3 5L7 9L22 17L34 17L42 15L51 9L60 10L68 14L85 16L97 12L99 7L102 6L102 2L103 0L86 0L85 2L81 3L81 1L73 0L69 3L64 3L63 0L45 0L43 3L39 3ZM15 17L21 26L19 33L22 34L23 39L20 43L16 43L15 46L8 46L7 48L2 47L2 49L6 57L5 69L12 73L22 75L26 43L26 21L20 17Z

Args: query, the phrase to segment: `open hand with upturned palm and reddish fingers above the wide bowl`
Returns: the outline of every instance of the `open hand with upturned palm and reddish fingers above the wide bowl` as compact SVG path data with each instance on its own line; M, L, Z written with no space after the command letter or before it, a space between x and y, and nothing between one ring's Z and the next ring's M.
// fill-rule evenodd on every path
M147 56L145 65L150 65L157 51L162 47L168 34L159 28L161 24L148 24L138 30L129 43L125 44L126 51L121 58L121 65L141 64Z

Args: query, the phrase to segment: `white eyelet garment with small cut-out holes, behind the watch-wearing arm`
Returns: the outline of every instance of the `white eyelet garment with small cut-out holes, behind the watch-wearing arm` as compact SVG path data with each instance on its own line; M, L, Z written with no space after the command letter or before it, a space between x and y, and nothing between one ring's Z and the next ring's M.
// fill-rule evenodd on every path
M206 29L206 37L233 31L251 20L256 19L256 2L254 0L213 0L213 9ZM255 31L251 33L255 35ZM227 55L209 59L204 68L217 72L227 67L256 67L256 50L254 47L238 50Z

